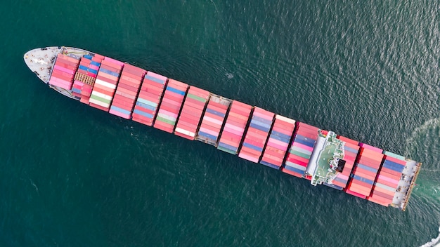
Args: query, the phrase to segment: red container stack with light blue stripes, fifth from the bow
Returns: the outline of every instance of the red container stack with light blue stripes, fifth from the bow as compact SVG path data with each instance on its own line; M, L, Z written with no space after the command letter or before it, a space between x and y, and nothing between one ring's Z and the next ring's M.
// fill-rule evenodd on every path
M147 72L143 78L141 91L133 110L133 121L152 126L160 103L167 77L153 72Z

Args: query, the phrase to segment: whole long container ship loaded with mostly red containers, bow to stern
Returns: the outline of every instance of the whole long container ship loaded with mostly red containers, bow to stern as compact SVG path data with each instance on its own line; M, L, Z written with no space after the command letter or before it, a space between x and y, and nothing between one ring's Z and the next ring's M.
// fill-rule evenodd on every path
M27 67L83 104L405 211L422 163L80 48L37 48Z

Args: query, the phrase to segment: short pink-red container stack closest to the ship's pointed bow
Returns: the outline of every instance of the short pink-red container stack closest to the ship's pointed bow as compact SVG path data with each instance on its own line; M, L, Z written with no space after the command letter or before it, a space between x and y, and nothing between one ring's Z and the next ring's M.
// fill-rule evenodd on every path
M64 88L66 90L71 90L78 65L79 59L58 53L55 65L53 65L49 84Z

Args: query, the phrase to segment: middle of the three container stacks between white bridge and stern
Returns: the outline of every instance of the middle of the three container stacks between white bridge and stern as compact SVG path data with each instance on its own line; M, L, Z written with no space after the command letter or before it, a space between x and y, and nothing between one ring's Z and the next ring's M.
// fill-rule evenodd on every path
M349 182L346 192L362 199L370 196L377 171L382 163L382 149L359 143L361 150L355 163L353 178Z

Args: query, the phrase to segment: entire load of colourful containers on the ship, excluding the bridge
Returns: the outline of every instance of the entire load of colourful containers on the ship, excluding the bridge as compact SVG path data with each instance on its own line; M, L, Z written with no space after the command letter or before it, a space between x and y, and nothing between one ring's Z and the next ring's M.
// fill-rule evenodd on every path
M60 54L55 65L51 80L57 81L59 67L63 73L70 69L65 81L73 83L75 96L92 107L299 178L310 179L305 171L313 148L318 135L327 133L101 55L79 60ZM345 142L345 165L328 186L384 206L392 203L406 159L343 136L337 138Z

